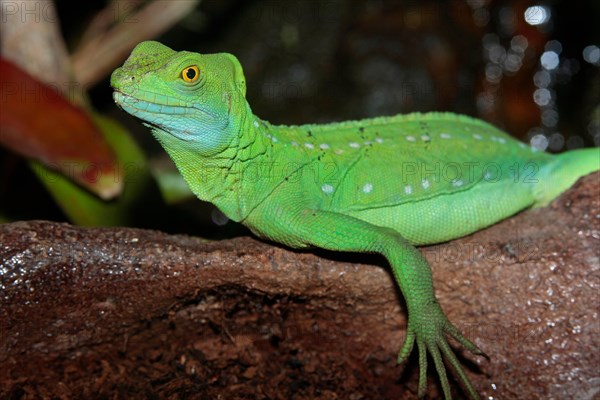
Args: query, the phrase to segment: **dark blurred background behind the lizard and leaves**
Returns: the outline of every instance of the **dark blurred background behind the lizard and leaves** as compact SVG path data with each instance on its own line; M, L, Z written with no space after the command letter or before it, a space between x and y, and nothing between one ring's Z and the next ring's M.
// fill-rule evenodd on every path
M600 44L599 3L483 3L205 0L155 40L175 50L236 55L253 111L272 123L452 111L485 119L550 152L600 145L600 68L582 55L586 46ZM107 4L57 1L70 48ZM550 11L547 23L525 22L532 5ZM548 50L559 53L560 63L544 72L540 57ZM545 106L534 101L540 73L551 94ZM94 107L122 122L149 157L166 157L148 130L114 105L109 76L89 94ZM2 181L0 204L7 215L66 220L25 162ZM206 222L210 207L192 201L161 212L181 212L183 220L192 212ZM151 219L146 226L167 231L223 233L210 222L197 230L176 217L170 223Z

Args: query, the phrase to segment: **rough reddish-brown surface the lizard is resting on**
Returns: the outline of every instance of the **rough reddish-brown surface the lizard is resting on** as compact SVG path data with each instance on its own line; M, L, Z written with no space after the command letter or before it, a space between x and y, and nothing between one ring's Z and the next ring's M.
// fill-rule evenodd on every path
M596 173L422 249L450 320L491 357L463 358L483 396L600 398L599 248ZM0 225L0 294L0 398L416 398L379 257L18 222Z

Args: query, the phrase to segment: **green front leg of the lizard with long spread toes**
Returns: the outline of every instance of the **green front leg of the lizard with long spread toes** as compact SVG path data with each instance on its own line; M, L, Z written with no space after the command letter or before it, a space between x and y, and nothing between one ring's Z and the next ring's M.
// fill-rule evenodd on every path
M292 235L306 245L335 251L379 253L390 263L408 307L407 337L398 362L406 361L416 343L420 367L419 397L426 391L429 352L446 399L451 398L451 392L443 359L455 371L469 397L478 398L448 344L447 336L452 336L474 354L485 354L467 340L442 311L435 297L431 270L421 253L392 229L335 212L305 209L301 213L303 215L295 218Z

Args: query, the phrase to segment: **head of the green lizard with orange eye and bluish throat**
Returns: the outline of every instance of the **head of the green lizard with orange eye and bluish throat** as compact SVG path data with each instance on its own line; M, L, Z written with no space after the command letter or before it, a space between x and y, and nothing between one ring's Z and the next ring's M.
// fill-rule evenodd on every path
M244 73L233 55L176 52L152 41L133 49L111 86L115 103L163 146L183 141L203 154L229 146L248 107Z

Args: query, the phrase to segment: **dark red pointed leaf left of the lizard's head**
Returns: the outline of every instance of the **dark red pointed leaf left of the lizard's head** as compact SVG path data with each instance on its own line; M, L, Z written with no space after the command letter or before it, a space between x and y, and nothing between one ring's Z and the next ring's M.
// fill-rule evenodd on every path
M122 189L116 158L81 108L0 58L0 145L61 171L104 199Z

